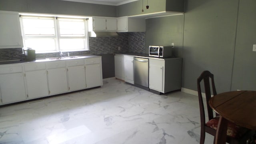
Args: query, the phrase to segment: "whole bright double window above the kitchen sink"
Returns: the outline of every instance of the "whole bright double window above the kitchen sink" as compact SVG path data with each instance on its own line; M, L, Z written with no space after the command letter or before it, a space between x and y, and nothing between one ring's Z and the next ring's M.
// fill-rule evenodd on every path
M88 50L85 19L21 16L24 46L37 53Z

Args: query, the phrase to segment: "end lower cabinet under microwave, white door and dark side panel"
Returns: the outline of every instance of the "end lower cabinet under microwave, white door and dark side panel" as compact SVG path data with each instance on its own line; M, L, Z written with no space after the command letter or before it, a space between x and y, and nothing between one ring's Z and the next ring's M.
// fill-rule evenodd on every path
M149 88L161 93L181 89L182 58L149 59Z

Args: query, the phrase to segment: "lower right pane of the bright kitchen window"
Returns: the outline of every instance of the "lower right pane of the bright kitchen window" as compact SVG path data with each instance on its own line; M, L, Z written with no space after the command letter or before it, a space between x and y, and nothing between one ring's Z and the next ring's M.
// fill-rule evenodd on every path
M60 50L81 50L81 49L84 49L83 38L60 39Z

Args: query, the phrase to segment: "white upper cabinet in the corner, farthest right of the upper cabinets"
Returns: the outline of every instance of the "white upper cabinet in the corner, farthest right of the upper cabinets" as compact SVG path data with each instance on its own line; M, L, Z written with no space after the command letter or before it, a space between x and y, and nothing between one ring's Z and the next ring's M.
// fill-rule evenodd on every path
M117 18L118 32L146 32L146 20L144 18L129 18L123 16Z

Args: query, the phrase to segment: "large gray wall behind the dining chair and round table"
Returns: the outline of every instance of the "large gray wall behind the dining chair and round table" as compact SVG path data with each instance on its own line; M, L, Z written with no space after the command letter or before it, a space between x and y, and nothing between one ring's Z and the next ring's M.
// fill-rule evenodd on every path
M218 93L256 90L254 6L255 0L185 0L182 87L197 90L196 79L209 70Z

